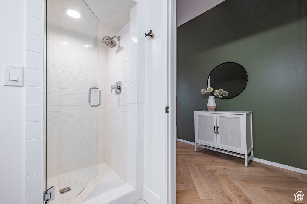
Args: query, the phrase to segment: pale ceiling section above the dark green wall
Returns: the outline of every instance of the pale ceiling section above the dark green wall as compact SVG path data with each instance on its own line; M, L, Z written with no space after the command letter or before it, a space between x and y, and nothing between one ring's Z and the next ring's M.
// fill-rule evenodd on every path
M177 0L177 27L225 0Z

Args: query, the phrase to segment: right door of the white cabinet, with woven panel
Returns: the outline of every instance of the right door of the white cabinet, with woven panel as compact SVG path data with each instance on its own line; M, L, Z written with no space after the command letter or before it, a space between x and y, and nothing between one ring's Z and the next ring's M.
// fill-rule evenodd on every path
M216 114L217 146L244 152L243 115Z

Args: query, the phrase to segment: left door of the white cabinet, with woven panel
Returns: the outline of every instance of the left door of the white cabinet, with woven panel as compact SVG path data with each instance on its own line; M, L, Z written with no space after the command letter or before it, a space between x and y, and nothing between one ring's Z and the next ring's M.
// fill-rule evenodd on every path
M216 114L196 113L196 143L216 146Z

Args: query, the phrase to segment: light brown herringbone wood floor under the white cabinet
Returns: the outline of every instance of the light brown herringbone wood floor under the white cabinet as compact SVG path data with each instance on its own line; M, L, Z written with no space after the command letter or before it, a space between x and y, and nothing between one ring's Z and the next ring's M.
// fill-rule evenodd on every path
M307 175L176 143L177 204L307 204ZM303 191L303 202L294 194Z

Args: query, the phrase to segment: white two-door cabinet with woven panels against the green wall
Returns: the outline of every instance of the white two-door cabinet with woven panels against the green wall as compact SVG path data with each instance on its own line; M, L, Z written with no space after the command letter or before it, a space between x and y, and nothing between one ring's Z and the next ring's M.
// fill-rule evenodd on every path
M195 151L204 147L253 160L252 112L194 111Z

